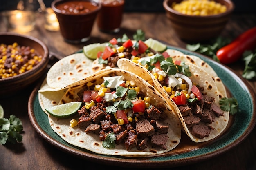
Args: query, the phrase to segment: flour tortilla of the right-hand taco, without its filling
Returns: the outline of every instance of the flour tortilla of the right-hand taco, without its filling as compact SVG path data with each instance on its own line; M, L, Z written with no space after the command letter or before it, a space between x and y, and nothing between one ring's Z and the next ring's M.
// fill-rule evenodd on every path
M200 68L199 66L196 66L195 64L192 64L190 62L186 62L186 64L189 65L189 70L192 74L191 77L189 77L191 81L204 87L203 93L207 94L208 97L214 97L215 104L219 106L219 100L220 100L219 91L223 91L223 93L226 94L224 86L217 86L212 76L209 75L207 71ZM194 136L191 133L191 128L189 128L186 125L184 121L184 117L182 116L178 106L175 104L175 102L173 102L170 95L168 95L168 93L164 90L164 88L161 86L159 81L154 77L154 75L150 73L150 71L148 71L144 66L136 64L128 59L118 60L117 65L121 69L131 71L137 74L138 76L146 77L146 79L150 79L151 77L157 90L164 95L164 97L166 98L166 101L168 101L168 103L172 106L172 108L176 110L176 113L182 123L183 131L186 132L186 134L191 138L192 141L194 142L209 141L219 136L225 130L229 120L229 112L224 112L223 114L224 116L216 117L214 122L212 122L211 124L207 124L207 126L211 126L212 128L214 128L213 130L211 130L208 137L204 137L201 139L199 137ZM147 75L145 75L144 73L147 73Z

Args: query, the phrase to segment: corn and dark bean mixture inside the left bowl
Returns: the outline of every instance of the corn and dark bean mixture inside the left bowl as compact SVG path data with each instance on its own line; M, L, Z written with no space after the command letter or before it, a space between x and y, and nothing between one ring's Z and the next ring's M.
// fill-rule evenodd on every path
M31 70L42 60L29 46L0 44L0 79L12 77Z

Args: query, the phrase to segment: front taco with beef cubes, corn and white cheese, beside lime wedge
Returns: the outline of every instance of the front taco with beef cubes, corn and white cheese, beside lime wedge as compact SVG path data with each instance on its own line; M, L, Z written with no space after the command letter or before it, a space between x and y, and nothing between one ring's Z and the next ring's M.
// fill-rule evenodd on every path
M175 111L159 91L134 73L104 69L66 90L58 104L83 101L84 105L73 117L48 117L52 129L74 146L99 154L140 157L168 152L180 143ZM44 106L49 104L42 104L43 110ZM70 127L71 119L78 126ZM108 143L113 134L116 140Z

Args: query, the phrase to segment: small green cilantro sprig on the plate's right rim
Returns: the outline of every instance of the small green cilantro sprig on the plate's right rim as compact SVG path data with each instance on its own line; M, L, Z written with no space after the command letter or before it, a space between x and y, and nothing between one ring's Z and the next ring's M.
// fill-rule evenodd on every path
M231 115L234 115L238 111L238 101L234 97L223 97L219 103L221 110L229 112Z

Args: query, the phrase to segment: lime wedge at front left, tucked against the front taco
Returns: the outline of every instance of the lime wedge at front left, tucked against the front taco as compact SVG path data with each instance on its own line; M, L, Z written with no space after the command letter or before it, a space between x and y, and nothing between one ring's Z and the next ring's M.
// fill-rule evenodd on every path
M58 118L71 117L81 108L82 102L70 102L53 106L51 108L45 108L45 110L52 116Z

